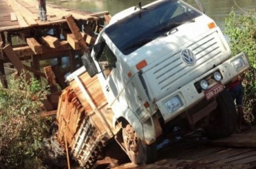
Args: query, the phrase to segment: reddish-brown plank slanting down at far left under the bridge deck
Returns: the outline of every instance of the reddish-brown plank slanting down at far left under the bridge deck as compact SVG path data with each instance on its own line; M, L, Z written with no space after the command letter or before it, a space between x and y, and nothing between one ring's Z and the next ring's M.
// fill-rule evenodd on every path
M17 57L17 55L15 54L15 51L12 50L12 47L10 46L10 44L8 44L7 46L5 46L3 48L3 52L6 53L6 56L12 62L12 64L15 66L15 68L17 69L19 74L21 74L21 70L26 70L23 63L19 60L19 57ZM30 78L31 78L30 74L27 73L26 81L29 81Z

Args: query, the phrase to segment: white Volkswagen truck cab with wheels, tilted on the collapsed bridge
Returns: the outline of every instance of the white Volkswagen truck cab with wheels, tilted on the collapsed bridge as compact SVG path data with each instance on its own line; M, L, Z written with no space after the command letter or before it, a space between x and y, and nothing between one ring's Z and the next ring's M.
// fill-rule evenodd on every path
M114 15L82 61L113 113L108 128L120 128L104 143L115 137L136 164L156 159L156 141L173 126L203 128L212 139L231 135L237 112L225 86L250 67L244 52L232 57L210 17L181 0Z

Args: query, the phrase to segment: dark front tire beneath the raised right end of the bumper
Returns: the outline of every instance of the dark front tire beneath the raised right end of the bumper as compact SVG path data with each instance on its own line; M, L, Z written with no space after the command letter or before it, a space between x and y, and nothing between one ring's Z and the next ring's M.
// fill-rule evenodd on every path
M216 98L217 108L210 113L209 124L204 128L210 139L228 137L237 123L237 110L229 92L223 90Z

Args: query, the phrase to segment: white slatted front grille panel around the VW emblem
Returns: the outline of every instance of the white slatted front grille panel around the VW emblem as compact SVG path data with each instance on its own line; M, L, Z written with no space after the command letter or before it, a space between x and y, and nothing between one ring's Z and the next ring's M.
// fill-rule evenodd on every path
M208 36L196 39L189 46L179 48L174 54L165 56L164 60L149 68L149 72L145 72L145 74L150 79L155 78L152 81L156 81L158 86L158 91L152 92L157 94L157 92L165 92L170 88L178 89L185 83L199 77L203 72L221 63L225 59L224 57L220 59L225 48L223 48L217 37L218 33L212 32ZM196 63L193 66L186 65L181 59L181 50L185 48L189 48L194 52ZM151 85L149 84L149 86Z

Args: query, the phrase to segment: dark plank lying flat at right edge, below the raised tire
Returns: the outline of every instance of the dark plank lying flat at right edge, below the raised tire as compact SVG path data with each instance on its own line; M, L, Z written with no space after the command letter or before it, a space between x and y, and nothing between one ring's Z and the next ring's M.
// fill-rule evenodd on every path
M256 134L233 134L230 137L213 140L210 144L214 146L256 148Z

